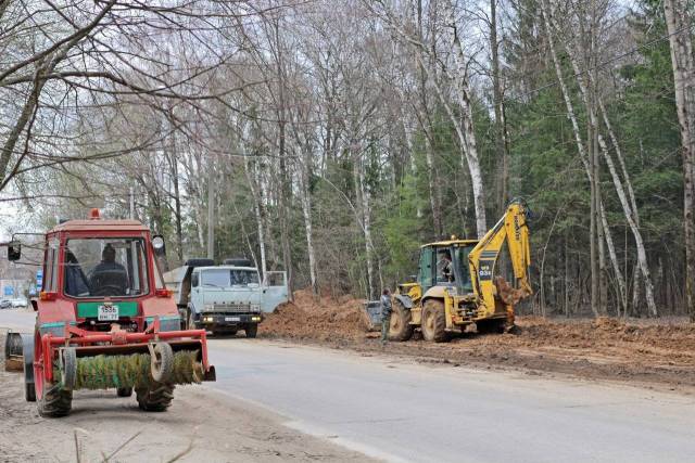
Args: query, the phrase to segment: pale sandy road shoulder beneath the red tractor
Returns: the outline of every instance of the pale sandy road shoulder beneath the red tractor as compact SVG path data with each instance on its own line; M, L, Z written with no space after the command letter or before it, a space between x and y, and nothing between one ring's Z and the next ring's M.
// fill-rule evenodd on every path
M68 416L42 419L0 353L0 462L372 461L283 420L205 386L177 387L165 413L142 412L114 390L78 390Z

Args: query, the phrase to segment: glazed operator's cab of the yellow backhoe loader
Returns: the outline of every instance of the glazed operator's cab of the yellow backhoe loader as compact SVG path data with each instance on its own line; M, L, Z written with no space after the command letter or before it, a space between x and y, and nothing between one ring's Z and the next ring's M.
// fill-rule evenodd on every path
M432 286L472 293L468 255L477 244L477 240L451 240L421 246L417 282L422 294Z

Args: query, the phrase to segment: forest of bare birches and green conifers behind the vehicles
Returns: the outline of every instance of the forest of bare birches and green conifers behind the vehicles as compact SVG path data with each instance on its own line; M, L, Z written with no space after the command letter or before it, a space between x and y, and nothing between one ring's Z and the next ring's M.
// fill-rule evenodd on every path
M533 210L536 314L695 317L687 0L0 1L10 231L130 215L374 298Z

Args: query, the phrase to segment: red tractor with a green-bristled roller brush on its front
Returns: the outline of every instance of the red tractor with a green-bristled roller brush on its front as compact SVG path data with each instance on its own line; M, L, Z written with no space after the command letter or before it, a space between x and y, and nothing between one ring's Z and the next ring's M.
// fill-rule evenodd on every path
M73 390L135 389L140 409L164 411L176 384L215 381L204 330L180 330L157 257L162 236L137 220L61 223L46 234L33 338L24 342L25 396L42 416L70 413ZM12 243L9 258L18 260Z

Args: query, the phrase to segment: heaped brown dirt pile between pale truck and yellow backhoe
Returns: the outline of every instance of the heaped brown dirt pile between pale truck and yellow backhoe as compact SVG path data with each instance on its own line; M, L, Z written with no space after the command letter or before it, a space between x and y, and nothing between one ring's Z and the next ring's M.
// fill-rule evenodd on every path
M298 291L294 301L282 304L268 314L258 332L266 337L289 339L361 339L368 329L363 303L349 296L315 299L311 291Z

